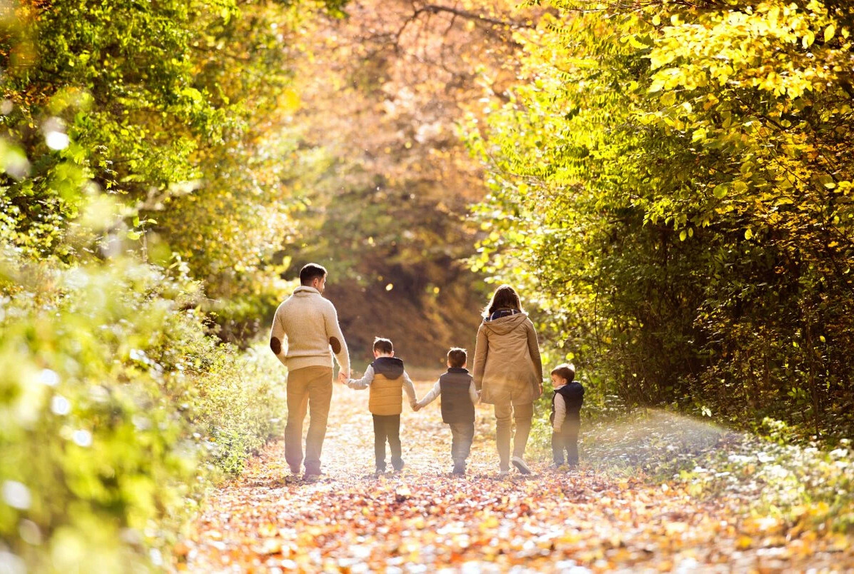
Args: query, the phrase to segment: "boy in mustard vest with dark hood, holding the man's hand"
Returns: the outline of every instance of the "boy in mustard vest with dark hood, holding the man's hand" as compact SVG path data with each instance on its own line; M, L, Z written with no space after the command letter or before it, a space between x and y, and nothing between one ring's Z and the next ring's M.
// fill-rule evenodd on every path
M385 472L385 442L391 449L391 466L395 471L403 468L401 458L401 412L403 391L409 395L409 405L415 409L415 387L403 369L403 361L395 358L395 348L389 339L374 339L374 361L360 379L349 379L350 389L371 389L368 410L374 419L374 454L377 457L377 475Z

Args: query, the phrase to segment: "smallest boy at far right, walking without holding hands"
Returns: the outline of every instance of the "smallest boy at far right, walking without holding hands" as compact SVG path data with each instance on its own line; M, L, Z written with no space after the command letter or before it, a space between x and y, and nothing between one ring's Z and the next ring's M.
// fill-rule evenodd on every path
M566 462L570 468L578 465L578 430L581 427L581 410L584 402L584 387L573 380L576 368L568 363L556 366L552 371L554 396L552 397L552 456L553 468Z

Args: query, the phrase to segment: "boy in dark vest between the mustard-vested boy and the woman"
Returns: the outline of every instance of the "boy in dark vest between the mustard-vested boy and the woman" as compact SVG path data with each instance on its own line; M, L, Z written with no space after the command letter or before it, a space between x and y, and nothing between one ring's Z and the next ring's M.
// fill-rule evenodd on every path
M451 458L453 474L457 475L465 474L465 459L475 436L475 405L480 401L474 378L465 368L466 359L465 348L449 350L447 372L415 405L418 411L442 395L442 422L451 427Z

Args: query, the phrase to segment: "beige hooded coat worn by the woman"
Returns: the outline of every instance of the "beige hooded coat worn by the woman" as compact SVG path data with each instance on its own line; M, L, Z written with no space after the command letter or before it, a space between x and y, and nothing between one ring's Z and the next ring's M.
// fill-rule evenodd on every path
M542 362L534 324L525 313L491 321L477 329L475 387L481 402L525 405L540 396Z

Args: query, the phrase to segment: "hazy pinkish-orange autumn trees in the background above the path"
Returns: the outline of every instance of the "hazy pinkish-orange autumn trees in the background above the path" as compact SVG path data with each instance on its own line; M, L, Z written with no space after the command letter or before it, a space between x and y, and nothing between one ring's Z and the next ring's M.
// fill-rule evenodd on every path
M474 347L486 288L460 260L478 233L468 206L486 190L457 122L498 107L515 78L512 30L541 12L516 4L357 0L347 19L301 33L294 126L326 165L301 172L286 276L328 263L328 296L356 356L370 357L375 335L424 366Z

